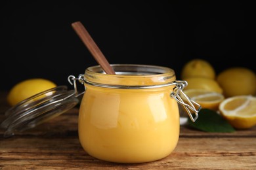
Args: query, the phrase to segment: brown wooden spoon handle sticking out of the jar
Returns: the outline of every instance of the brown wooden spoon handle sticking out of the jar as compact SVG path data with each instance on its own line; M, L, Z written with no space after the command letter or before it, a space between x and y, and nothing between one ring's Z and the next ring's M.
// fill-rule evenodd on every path
M91 38L91 35L85 29L83 24L81 24L81 22L74 22L72 23L72 27L74 28L77 35L80 37L81 41L83 41L85 46L87 46L88 50L91 52L91 54L96 59L98 64L106 72L106 74L116 75L114 69L110 66L110 63L108 63L108 60L102 54L102 52L100 51L100 48L98 48L95 41L93 41L93 39Z

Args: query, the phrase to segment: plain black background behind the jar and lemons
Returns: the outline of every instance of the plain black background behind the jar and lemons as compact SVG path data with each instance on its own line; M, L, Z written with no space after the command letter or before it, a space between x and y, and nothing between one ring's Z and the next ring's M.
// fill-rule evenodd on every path
M250 3L251 2L251 3ZM0 90L27 78L67 85L97 65L72 29L81 21L110 63L207 59L219 73L255 71L253 1L7 1L0 6Z

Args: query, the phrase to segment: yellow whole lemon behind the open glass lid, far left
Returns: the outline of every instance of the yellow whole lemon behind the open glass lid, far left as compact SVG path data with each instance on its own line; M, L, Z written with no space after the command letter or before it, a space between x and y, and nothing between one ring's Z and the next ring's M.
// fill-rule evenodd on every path
M7 102L11 106L14 106L32 95L54 87L56 87L54 82L44 78L31 78L23 80L11 88L7 95Z

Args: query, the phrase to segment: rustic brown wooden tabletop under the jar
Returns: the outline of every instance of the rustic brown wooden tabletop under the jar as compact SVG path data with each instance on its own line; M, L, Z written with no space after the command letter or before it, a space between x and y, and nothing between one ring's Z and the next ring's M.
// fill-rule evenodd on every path
M6 92L0 92L0 122ZM167 158L122 164L97 160L81 147L78 108L33 129L4 138L0 129L0 169L256 169L256 127L234 133L206 133L181 126L177 147Z

